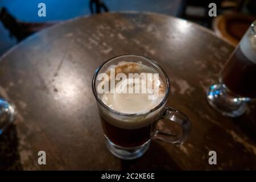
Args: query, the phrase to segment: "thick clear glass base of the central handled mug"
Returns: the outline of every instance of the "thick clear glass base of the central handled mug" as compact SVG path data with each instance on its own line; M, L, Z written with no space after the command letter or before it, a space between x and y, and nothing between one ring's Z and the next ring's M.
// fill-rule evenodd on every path
M146 143L144 143L142 146L138 147L120 147L117 146L116 144L112 143L108 137L105 136L105 142L106 146L108 147L109 151L116 156L119 159L126 159L126 160L131 160L131 159L137 159L141 157L148 149L150 146L150 140L148 140Z

